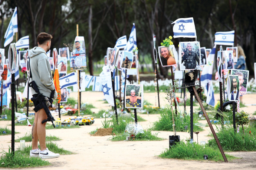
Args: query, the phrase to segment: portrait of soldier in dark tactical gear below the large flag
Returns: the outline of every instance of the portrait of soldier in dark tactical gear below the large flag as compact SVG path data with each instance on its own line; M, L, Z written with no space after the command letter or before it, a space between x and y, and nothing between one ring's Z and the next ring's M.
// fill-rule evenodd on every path
M200 68L200 43L198 41L180 42L179 63L180 70L193 70Z

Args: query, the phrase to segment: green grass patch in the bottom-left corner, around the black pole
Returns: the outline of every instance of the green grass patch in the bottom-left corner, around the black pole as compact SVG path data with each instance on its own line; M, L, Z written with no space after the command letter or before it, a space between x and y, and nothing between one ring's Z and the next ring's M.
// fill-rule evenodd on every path
M4 152L0 157L1 168L26 168L26 167L41 167L50 165L48 161L42 160L39 157L29 158L29 152L22 154L19 151L15 152L15 156L12 153Z

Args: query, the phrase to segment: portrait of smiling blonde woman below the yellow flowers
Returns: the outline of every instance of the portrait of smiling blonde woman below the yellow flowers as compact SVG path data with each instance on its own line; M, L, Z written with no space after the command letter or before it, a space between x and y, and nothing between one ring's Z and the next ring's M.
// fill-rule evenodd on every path
M174 45L169 45L169 47L165 47L165 46L158 47L158 54L159 54L161 65L163 67L168 67L176 64L176 60L174 56L175 54Z

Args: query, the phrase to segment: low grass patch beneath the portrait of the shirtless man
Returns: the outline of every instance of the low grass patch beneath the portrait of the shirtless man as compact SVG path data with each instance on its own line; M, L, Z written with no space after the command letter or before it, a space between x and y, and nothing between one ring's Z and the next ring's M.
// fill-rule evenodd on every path
M124 133L119 133L116 136L112 137L112 141L120 141L120 140L126 140L126 136ZM131 139L130 139L131 140ZM151 130L144 130L144 133L138 133L138 135L135 136L135 140L163 140L163 138L157 137L157 133L152 134Z

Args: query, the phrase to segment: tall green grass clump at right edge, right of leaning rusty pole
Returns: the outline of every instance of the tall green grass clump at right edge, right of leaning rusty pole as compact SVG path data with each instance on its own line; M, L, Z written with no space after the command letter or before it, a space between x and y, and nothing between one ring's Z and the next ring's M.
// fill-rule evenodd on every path
M223 129L217 128L216 135L224 151L256 151L255 127L249 126L244 128L243 133L242 127L240 126L240 132L237 133L234 131L232 125L227 125ZM218 148L214 139L210 139L208 145L216 149Z

